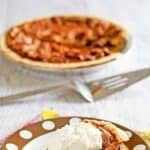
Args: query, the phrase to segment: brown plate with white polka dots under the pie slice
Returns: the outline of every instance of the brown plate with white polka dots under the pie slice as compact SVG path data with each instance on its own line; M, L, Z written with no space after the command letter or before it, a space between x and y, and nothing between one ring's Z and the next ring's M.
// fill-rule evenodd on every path
M46 150L52 131L66 124L79 122L82 119L102 121L101 119L86 117L61 117L41 121L36 124L28 125L11 135L2 145L1 150ZM146 143L136 133L126 127L115 125L124 130L129 136L129 141L125 142L129 150L149 150Z

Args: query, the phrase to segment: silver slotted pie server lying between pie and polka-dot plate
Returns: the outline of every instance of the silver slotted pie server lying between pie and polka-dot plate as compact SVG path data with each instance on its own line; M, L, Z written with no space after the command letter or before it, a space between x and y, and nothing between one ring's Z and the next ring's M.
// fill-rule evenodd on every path
M148 76L150 76L150 68L132 71L128 73L122 73L104 79L91 81L88 83L85 83L82 80L78 79L74 81L64 82L61 84L51 85L49 87L45 87L41 89L35 89L32 91L26 91L22 93L0 97L0 103L1 104L12 103L14 101L21 100L22 98L28 96L42 94L54 89L66 88L66 87L77 90L82 95L84 100L88 102L92 102L95 99L102 99L105 98L106 96L121 91L129 87L130 85L142 79L145 79Z

